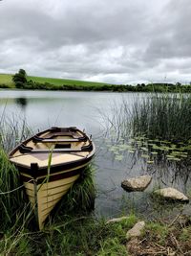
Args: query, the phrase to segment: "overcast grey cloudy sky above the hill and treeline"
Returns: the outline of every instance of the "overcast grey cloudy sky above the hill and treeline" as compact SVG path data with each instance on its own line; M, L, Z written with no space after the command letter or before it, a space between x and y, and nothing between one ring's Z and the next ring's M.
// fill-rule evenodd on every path
M190 0L0 1L0 73L191 81Z

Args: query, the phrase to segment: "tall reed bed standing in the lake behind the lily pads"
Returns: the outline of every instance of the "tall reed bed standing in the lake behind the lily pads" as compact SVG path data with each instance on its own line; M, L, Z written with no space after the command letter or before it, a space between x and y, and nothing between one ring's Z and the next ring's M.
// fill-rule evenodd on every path
M143 96L143 97L142 97ZM117 138L145 135L172 141L191 138L191 94L151 93L134 98L133 104L123 99L113 105L113 115L102 113L107 128Z

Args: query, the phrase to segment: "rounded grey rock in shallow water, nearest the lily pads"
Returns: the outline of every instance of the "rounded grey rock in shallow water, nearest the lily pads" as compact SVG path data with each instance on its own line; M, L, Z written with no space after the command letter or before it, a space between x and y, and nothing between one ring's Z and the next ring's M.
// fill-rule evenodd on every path
M152 177L150 175L142 175L138 177L129 178L121 182L121 187L127 192L144 191L151 183Z

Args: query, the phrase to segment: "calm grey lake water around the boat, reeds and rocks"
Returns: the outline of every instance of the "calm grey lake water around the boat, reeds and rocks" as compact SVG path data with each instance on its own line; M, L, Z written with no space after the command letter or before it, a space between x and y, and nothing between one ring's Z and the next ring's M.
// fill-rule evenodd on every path
M189 194L191 181L189 170L148 165L145 159L126 152L118 161L109 151L105 131L105 117L113 116L113 106L119 107L125 100L131 108L135 99L145 94L114 92L72 92L72 91L0 91L0 116L10 120L26 120L34 133L37 130L58 127L77 127L93 135L96 143L96 214L108 218L135 211L153 218L159 214L155 200L151 197L154 188L173 186ZM150 174L153 181L143 193L127 193L120 183L123 179ZM172 207L171 207L172 208ZM189 212L190 204L184 207Z

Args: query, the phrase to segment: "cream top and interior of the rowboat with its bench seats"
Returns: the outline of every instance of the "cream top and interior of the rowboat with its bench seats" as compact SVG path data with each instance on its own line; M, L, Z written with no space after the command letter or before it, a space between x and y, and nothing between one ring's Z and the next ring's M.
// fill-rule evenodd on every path
M10 154L11 162L30 167L37 163L39 168L57 165L87 157L93 150L90 139L76 128L51 128L38 133L19 145Z

